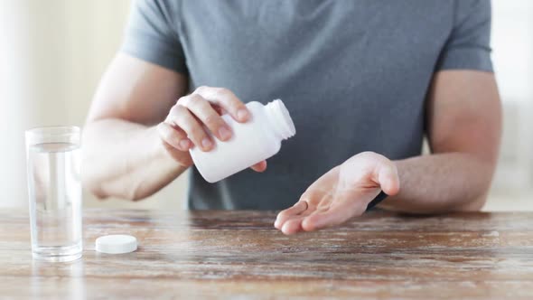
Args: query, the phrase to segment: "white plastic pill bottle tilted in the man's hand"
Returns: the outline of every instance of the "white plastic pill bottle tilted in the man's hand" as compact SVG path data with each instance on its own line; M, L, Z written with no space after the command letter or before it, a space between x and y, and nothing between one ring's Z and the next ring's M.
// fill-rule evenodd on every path
M215 146L209 152L198 147L190 150L194 165L208 183L216 183L276 155L281 141L296 134L295 124L280 99L265 106L255 101L246 106L251 112L246 123L222 116L233 134L228 141L213 137Z

